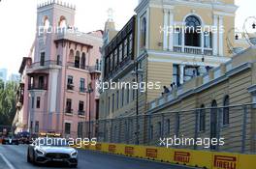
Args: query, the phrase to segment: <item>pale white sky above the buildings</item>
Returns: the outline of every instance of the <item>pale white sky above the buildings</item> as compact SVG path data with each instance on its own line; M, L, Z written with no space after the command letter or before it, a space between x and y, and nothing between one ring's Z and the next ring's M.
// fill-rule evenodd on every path
M117 29L134 14L139 0L64 0L77 7L75 26L82 32L104 29L108 9L112 8ZM0 2L0 68L18 73L22 57L26 57L35 38L37 4L45 0L1 0ZM255 0L236 0L240 6L236 24L254 12Z

